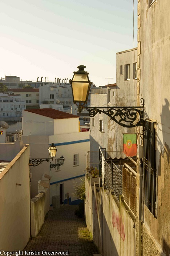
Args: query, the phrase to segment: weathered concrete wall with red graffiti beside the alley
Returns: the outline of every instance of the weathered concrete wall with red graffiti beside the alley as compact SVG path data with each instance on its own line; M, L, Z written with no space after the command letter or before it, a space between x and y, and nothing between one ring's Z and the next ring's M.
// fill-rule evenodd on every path
M92 230L93 241L102 255L135 255L133 214L124 202L118 203L116 196L105 190L104 185L100 187L99 182L95 182L92 186L87 177L85 213L87 227Z

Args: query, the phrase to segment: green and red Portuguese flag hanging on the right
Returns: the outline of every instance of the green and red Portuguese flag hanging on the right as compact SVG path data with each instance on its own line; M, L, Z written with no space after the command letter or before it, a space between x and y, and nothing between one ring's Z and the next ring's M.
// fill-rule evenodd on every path
M136 134L123 134L124 138L124 153L126 156L135 156L137 153Z

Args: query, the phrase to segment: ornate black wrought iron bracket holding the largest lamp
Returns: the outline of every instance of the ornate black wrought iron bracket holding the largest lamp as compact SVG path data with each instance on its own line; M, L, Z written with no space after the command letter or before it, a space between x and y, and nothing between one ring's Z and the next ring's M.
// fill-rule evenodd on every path
M144 100L141 98L140 107L83 107L88 110L89 116L94 117L97 113L104 113L110 120L123 127L132 128L143 125ZM106 110L105 110L106 109Z

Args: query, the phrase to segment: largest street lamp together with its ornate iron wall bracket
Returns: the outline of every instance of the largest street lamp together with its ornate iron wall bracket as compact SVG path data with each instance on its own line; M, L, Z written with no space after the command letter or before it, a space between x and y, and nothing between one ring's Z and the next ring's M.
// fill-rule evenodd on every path
M97 113L104 113L109 116L110 120L118 123L123 127L136 127L143 125L143 108L144 100L141 98L141 106L137 107L84 107L89 96L90 85L88 72L85 72L86 66L80 65L79 70L73 72L73 78L70 79L72 87L73 102L78 106L78 111L81 113L82 108L89 112L90 117L94 117Z

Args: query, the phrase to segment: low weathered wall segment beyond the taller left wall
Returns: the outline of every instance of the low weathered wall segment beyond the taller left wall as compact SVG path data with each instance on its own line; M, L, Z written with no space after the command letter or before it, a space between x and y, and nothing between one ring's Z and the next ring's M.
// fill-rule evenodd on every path
M31 235L36 237L45 220L45 193L40 192L31 199Z

